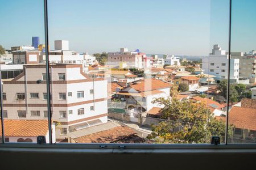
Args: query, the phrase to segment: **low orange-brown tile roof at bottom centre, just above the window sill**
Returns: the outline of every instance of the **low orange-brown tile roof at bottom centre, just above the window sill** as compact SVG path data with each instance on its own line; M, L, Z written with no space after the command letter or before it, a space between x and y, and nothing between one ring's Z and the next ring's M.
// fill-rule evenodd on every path
M118 126L109 130L85 135L74 139L76 143L143 143L145 140L128 126Z

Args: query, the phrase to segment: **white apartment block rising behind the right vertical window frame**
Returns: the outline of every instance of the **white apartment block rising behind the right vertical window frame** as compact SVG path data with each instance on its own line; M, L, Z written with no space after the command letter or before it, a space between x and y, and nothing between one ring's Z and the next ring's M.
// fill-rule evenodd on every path
M238 82L239 66L239 59L230 59L230 82ZM202 59L202 69L206 74L215 75L215 79L227 79L229 71L228 54L225 50L221 50L220 45L213 45L209 57Z

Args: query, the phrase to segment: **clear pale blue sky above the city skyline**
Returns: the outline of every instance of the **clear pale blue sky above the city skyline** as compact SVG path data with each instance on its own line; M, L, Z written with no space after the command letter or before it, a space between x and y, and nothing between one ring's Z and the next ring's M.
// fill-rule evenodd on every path
M234 51L256 48L256 2L242 2L233 1ZM228 50L229 0L48 0L48 12L51 49L54 40L69 40L70 49L90 54L127 47L207 55L213 44ZM30 45L32 36L44 41L43 0L1 0L0 16L6 49Z

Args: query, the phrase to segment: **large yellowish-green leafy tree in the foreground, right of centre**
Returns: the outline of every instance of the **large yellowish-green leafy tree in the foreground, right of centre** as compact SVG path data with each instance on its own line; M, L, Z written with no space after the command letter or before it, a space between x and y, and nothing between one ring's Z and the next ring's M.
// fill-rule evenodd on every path
M165 105L162 118L170 121L152 125L148 139L157 143L209 143L213 135L225 135L225 122L214 119L205 103L175 98L171 101L159 98L154 103ZM229 126L229 136L232 135L232 127Z

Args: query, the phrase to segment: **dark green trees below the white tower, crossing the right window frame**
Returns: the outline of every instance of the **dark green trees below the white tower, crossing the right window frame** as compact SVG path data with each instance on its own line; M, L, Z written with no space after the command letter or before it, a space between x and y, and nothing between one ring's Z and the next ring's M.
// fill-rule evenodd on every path
M228 92L228 80L221 80L218 84L220 94L225 97ZM242 98L250 98L251 92L246 91L245 84L230 84L229 86L229 99L232 102L240 101Z

